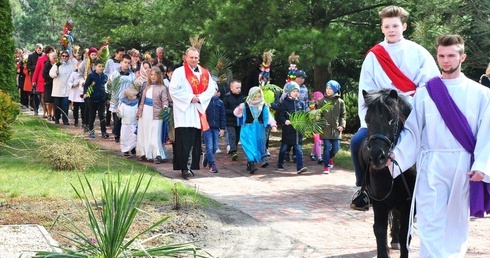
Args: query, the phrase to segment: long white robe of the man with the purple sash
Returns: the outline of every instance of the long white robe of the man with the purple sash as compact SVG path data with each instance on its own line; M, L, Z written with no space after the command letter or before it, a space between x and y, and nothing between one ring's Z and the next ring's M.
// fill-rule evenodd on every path
M470 212L466 173L482 171L490 182L490 90L463 74L442 81L475 136L475 162L470 167L470 153L451 134L427 89L419 88L393 153L402 171L417 163L414 201L421 258L464 257ZM398 169L394 172L396 177Z

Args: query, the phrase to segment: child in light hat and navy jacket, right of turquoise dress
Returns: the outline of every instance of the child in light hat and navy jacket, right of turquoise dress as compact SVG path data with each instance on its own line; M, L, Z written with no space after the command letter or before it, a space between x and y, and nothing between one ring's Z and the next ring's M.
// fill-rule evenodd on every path
M291 125L289 114L300 110L306 110L306 107L303 102L298 100L300 87L296 82L288 82L285 88L287 89L287 96L281 102L279 115L277 116L277 122L283 125L277 169L284 170L286 150L293 147L296 153L296 172L302 174L308 170L306 167L303 167L303 136Z

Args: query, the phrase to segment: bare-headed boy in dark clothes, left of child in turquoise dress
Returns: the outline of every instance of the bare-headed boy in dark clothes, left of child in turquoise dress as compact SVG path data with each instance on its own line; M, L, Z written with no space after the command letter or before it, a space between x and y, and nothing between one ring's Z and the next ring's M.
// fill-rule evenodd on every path
M228 132L228 142L230 145L229 154L233 161L238 158L236 152L238 141L240 140L241 129L241 127L238 126L237 118L233 114L233 110L244 101L241 91L242 83L239 80L232 80L230 82L230 92L226 93L225 98L223 99L226 113L226 131Z

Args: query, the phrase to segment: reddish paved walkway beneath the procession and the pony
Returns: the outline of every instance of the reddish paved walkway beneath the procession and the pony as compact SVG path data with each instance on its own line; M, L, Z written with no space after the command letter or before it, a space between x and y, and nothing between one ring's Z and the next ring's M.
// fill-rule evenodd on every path
M118 151L118 145L110 146ZM171 156L171 145L166 148ZM224 150L225 146L220 148ZM285 164L285 171L278 171L275 169L277 149L272 149L271 165L259 167L254 175L250 175L241 150L239 154L237 161L231 161L224 153L216 154L219 172L214 174L201 169L194 171L195 177L190 180L182 180L180 171L172 170L171 162L151 166L163 176L187 183L218 202L296 239L291 245L301 250L302 255L298 257L376 256L372 209L361 212L348 207L356 190L353 171L335 167L329 175L324 175L323 166L309 158L304 159L308 172L303 175L296 174L292 162ZM490 228L490 216L472 220L466 257L490 256L490 236L477 231L481 228ZM418 257L418 247L419 239L415 235L411 244L415 252L410 257ZM391 255L398 257L399 252L392 250Z

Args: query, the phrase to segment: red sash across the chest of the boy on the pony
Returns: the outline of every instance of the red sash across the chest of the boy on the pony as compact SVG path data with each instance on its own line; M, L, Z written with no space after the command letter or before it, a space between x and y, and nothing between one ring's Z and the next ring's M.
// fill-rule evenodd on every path
M398 69L398 67L391 59L390 54L386 52L386 49L383 46L381 46L380 44L376 44L369 51L373 52L373 54L376 56L379 64L396 88L403 92L416 90L417 85L415 85L412 80L410 80L405 74L402 73L402 71L400 71L400 69ZM411 95L413 95L413 93Z

